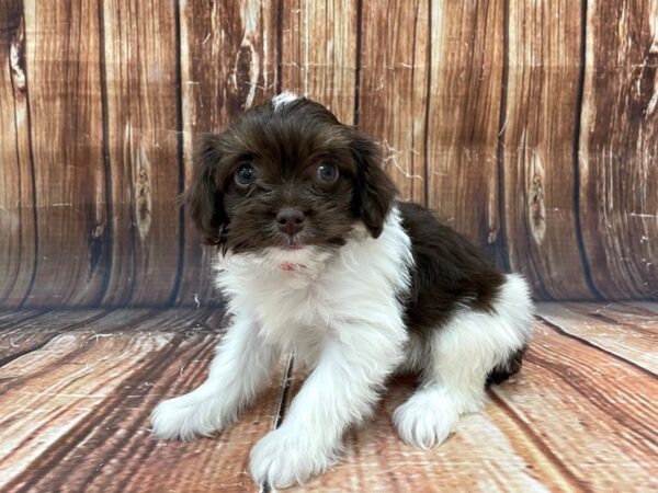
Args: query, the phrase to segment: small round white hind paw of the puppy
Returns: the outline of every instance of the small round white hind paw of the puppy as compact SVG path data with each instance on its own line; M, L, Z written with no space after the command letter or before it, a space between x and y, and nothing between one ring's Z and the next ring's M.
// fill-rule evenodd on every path
M447 438L458 414L444 399L415 394L395 410L393 421L402 442L429 449Z

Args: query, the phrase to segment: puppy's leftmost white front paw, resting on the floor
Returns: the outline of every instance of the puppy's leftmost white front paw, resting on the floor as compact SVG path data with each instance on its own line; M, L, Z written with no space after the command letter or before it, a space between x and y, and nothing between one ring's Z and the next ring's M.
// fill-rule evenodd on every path
M219 402L194 392L160 402L151 414L157 438L191 440L212 436L226 425Z

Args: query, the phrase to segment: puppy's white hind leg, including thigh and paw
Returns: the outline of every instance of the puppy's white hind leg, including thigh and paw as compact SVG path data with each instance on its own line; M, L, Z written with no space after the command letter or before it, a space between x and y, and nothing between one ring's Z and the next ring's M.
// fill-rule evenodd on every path
M531 331L525 282L508 275L492 312L464 310L431 342L420 388L394 413L400 438L421 448L442 443L461 414L486 402L487 379L518 369Z

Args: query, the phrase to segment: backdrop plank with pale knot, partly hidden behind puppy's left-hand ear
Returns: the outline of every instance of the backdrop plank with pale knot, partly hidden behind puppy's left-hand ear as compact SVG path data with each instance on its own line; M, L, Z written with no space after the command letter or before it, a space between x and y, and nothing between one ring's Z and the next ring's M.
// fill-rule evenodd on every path
M192 149L198 134L222 131L229 119L274 95L277 83L275 2L183 3L180 11L181 91L185 185L192 175ZM180 303L215 302L213 250L185 218L184 274Z

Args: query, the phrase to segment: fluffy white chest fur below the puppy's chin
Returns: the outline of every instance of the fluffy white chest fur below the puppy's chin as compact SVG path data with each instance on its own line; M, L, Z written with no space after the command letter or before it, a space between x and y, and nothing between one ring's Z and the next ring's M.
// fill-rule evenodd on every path
M268 342L308 351L363 324L404 334L396 294L408 288L411 264L410 239L393 210L377 239L356 227L338 250L228 252L216 271L231 313L257 322Z

